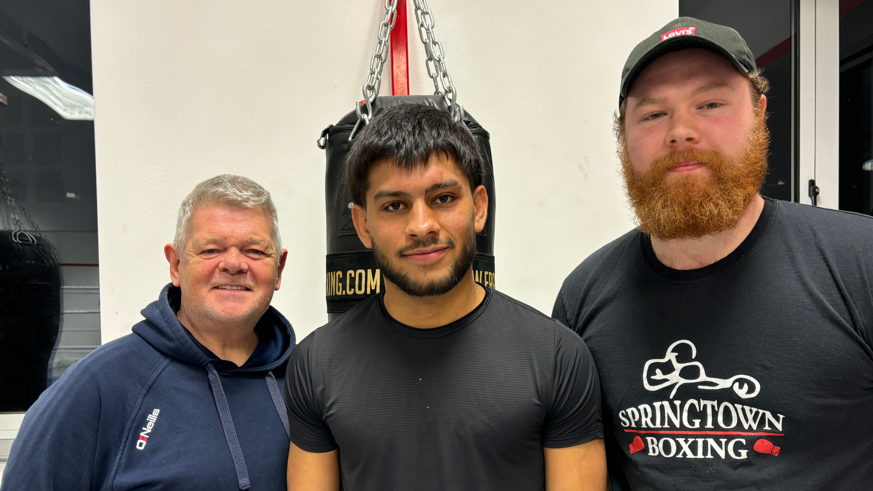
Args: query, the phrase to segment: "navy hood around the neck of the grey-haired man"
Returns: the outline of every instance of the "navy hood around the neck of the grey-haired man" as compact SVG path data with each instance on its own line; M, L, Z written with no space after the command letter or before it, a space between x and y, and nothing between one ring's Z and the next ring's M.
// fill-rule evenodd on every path
M210 358L195 343L176 317L179 309L181 291L172 283L165 286L158 300L150 303L142 310L145 320L133 326L133 332L141 337L159 352L191 365L204 366L215 364L216 366L233 365L230 362L221 362ZM281 366L288 360L291 350L294 349L296 339L294 329L285 317L272 306L264 312L256 327L261 341L255 350L258 353L268 353L269 356L258 360L254 366L246 363L242 367L232 368L229 371L236 373L264 373ZM266 334L266 336L264 335ZM267 343L266 346L262 346Z

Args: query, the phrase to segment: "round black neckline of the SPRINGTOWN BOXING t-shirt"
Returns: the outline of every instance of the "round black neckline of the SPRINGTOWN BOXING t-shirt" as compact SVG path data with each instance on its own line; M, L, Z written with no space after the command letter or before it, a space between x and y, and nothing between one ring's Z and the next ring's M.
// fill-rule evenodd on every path
M652 238L642 232L639 233L640 255L643 263L655 276L683 283L703 281L727 271L755 250L767 235L767 231L770 230L778 209L779 205L776 200L764 198L764 209L761 211L761 216L758 217L758 221L745 240L733 252L709 266L700 269L679 270L664 265L655 255L655 250L652 248Z

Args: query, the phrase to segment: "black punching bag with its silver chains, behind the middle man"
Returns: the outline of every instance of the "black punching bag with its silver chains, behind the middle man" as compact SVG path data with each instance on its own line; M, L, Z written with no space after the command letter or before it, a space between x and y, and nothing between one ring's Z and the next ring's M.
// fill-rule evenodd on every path
M327 257L325 296L328 318L354 307L370 295L384 289L381 272L376 265L373 251L364 247L358 239L352 222L352 197L346 182L346 157L354 144L354 136L369 120L386 108L399 104L423 104L452 114L456 122L470 130L479 145L479 153L485 167L485 189L488 191L488 219L481 232L476 234L476 250L473 256L473 277L477 283L494 288L494 223L496 220L497 195L494 189L494 166L491 159L490 135L476 120L457 104L454 88L445 68L442 46L433 34L433 16L424 0L413 0L419 35L428 56L428 73L434 80L432 96L376 97L381 84L385 48L397 17L397 0L386 1L385 20L379 27L376 53L370 63L370 76L364 84L364 100L356 104L335 125L321 133L319 148L325 150L327 169L325 173L325 212L327 217ZM405 4L404 4L405 5ZM401 12L404 14L404 12ZM433 68L432 68L433 67Z

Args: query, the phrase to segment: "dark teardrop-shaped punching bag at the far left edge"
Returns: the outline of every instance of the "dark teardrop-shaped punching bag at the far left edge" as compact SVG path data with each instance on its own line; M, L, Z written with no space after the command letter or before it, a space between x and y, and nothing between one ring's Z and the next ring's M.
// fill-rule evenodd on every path
M22 206L2 162L0 190L2 413L26 411L46 388L60 325L61 273L54 246Z

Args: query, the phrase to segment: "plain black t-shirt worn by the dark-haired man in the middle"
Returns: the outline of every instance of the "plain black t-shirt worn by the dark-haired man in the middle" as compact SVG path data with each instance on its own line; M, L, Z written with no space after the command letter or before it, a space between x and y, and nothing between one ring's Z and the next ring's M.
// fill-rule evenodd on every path
M435 329L362 302L297 346L285 402L295 445L339 448L347 491L542 490L543 447L603 437L585 344L492 290Z

